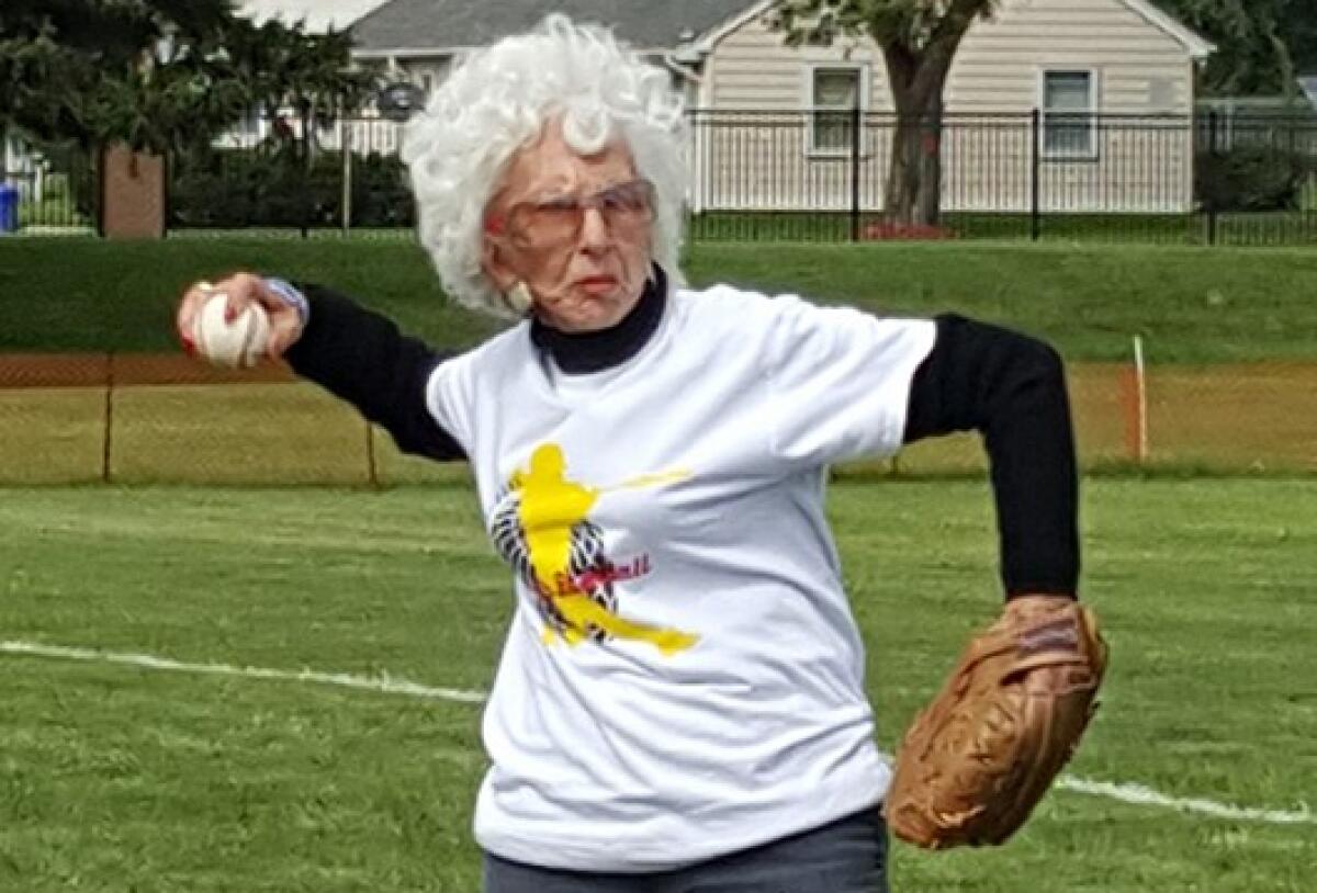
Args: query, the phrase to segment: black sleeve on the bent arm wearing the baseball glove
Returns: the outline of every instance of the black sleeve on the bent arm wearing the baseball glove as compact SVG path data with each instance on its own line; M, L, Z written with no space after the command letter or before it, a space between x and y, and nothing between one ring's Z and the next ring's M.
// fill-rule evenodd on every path
M979 431L992 465L1006 597L1073 595L1079 475L1060 356L1009 329L939 316L915 371L906 443Z

